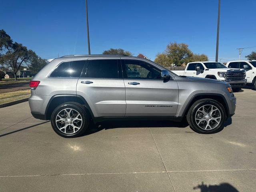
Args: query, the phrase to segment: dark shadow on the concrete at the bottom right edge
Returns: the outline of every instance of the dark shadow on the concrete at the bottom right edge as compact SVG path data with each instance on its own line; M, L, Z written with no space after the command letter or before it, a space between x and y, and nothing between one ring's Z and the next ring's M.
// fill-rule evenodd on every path
M221 183L219 185L205 185L204 182L202 184L193 187L193 189L200 189L201 192L239 192L236 188L234 188L229 183Z

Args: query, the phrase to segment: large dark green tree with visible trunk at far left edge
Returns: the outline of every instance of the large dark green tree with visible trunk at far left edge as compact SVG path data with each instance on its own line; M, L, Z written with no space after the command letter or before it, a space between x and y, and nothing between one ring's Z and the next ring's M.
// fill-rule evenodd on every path
M0 30L0 64L13 70L15 80L17 80L16 73L20 66L30 63L34 56L36 56L34 51L28 50L20 43L13 42L4 30Z

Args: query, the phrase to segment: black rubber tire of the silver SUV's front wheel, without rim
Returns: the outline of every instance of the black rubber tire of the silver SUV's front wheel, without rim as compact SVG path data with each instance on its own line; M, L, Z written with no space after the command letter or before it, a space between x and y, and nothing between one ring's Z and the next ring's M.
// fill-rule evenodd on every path
M196 123L196 112L198 109L200 109L204 105L213 105L214 107L218 108L220 112L220 115L221 115L220 122L213 129L204 130L200 126L198 126L198 124ZM219 132L220 130L223 129L225 120L226 120L226 112L224 107L222 106L222 104L212 99L200 99L194 102L194 104L188 110L188 114L187 114L187 121L188 121L188 124L190 125L190 128L195 132L201 133L201 134L212 134L212 133Z

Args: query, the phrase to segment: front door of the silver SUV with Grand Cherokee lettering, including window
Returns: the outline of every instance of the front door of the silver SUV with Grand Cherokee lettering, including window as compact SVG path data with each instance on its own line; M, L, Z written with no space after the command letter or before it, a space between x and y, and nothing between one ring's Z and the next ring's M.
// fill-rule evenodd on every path
M122 70L126 88L125 116L175 116L176 80L163 80L160 69L142 60L122 59Z

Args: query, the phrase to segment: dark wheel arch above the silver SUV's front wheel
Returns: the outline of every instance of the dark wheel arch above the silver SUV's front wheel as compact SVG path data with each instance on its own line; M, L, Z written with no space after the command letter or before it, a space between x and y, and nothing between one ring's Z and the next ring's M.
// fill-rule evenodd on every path
M184 112L182 113L182 117L186 116L188 113L188 110L190 109L190 107L194 104L194 102L196 102L197 100L200 99L212 99L212 100L216 100L218 101L220 104L223 105L223 107L225 108L225 112L226 112L226 116L229 116L229 107L228 107L228 103L225 99L225 97L222 94L217 94L217 93L202 93L202 94L195 94L190 101L188 102Z

